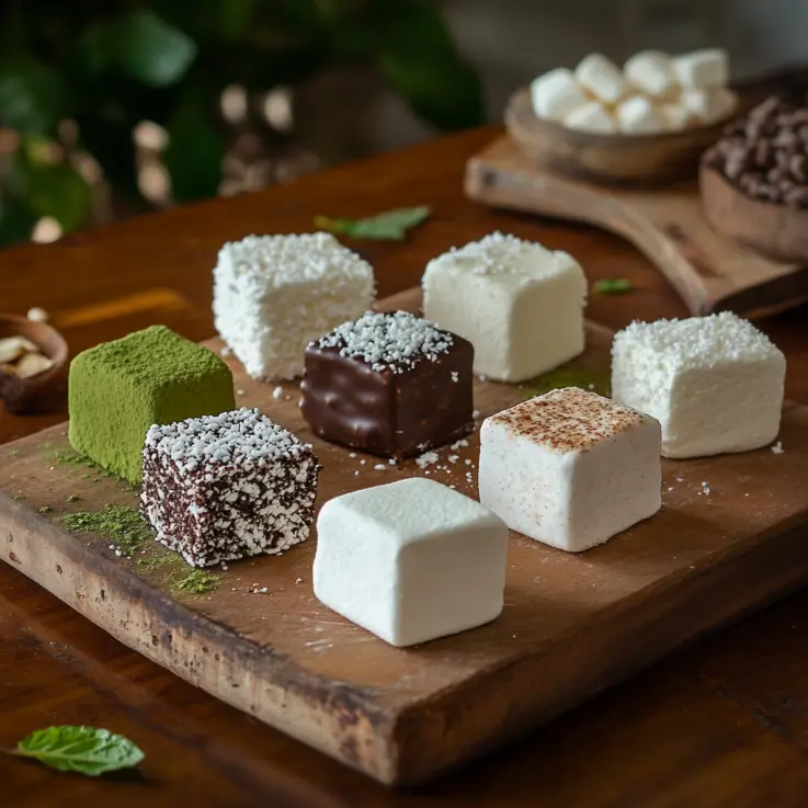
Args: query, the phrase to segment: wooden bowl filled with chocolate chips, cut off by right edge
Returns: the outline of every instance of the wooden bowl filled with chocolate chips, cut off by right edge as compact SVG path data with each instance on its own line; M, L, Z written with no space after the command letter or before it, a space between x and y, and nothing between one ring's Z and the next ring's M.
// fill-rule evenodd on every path
M761 254L808 261L808 105L770 98L702 157L705 215Z

